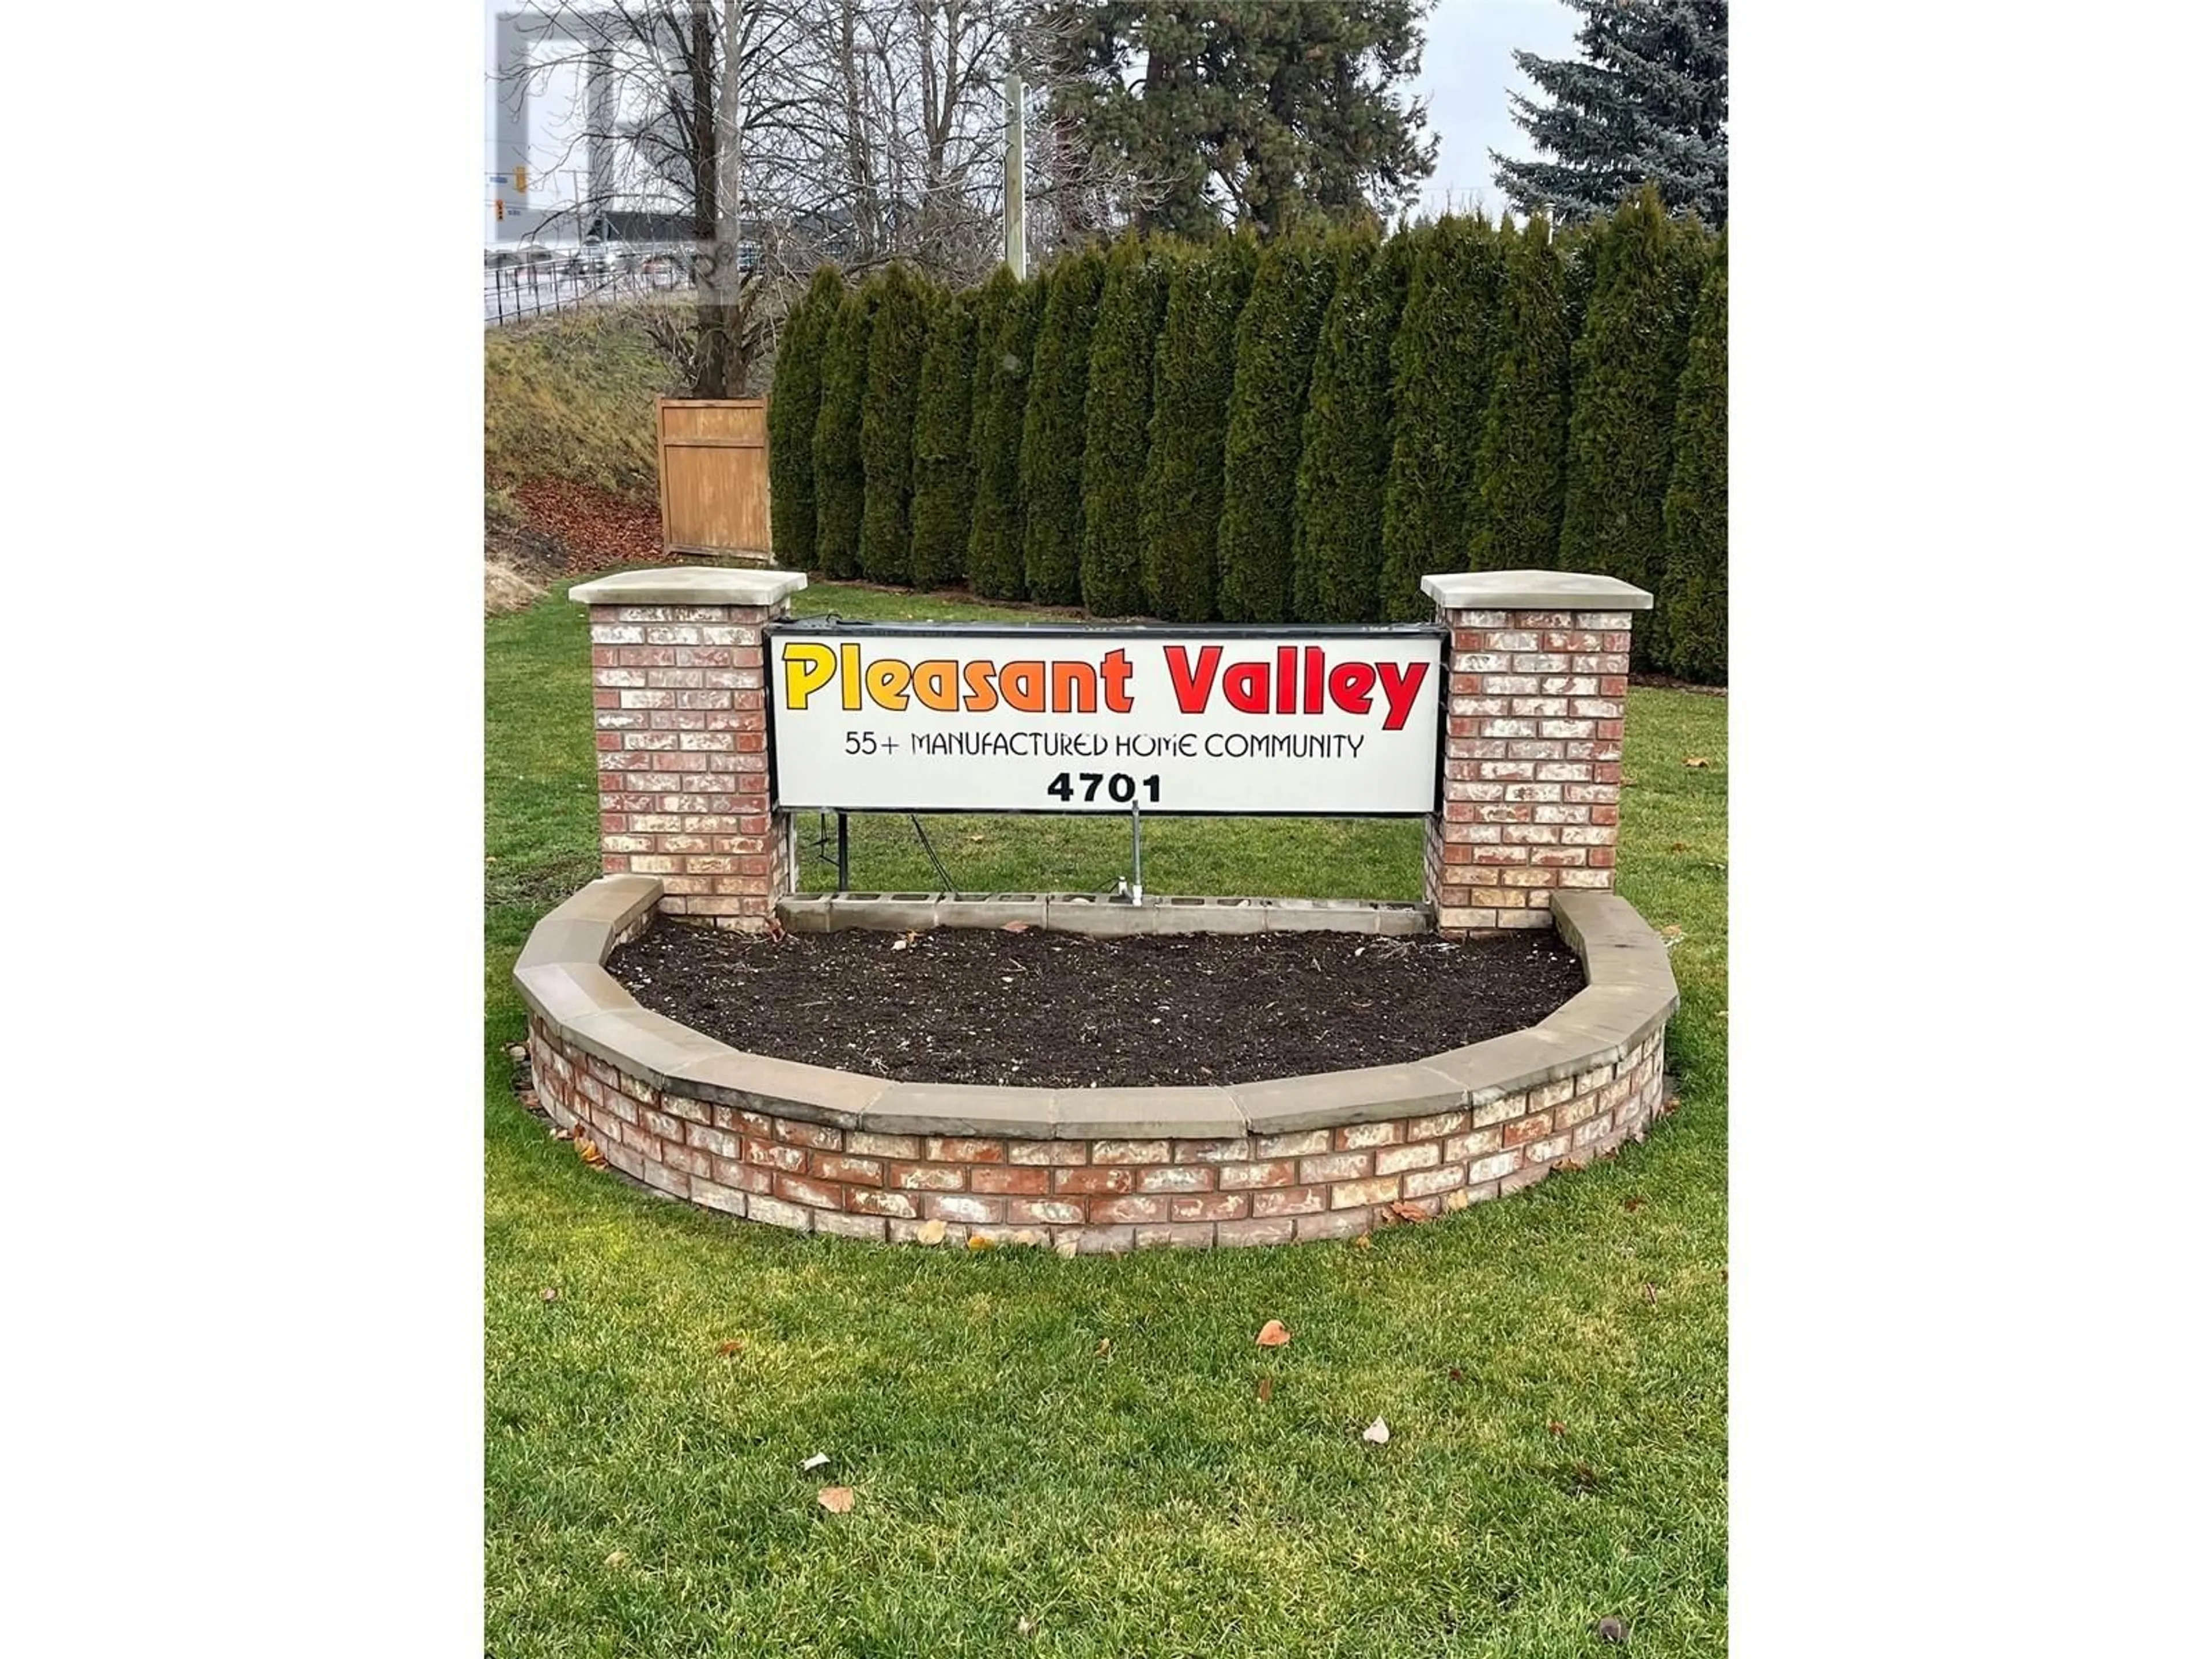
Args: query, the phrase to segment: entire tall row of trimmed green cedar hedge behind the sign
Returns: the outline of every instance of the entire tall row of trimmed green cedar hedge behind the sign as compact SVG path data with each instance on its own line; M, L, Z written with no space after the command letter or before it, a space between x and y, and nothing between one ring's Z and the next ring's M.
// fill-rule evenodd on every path
M768 422L790 568L1168 622L1597 571L1659 595L1639 670L1728 677L1725 246L1652 192L1559 234L1124 239L967 294L823 270Z

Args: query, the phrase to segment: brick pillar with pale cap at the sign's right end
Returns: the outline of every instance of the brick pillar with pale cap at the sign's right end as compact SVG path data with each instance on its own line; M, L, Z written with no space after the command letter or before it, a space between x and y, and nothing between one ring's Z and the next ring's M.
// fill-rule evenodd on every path
M1444 816L1422 896L1464 938L1548 927L1559 887L1613 887L1630 615L1652 595L1608 575L1422 577L1451 630Z

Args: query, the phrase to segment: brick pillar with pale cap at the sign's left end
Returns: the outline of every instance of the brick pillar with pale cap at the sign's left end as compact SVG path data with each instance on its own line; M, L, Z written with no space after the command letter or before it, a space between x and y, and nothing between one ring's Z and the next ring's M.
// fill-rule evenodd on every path
M661 909L759 931L799 869L768 805L761 628L796 571L626 571L568 591L591 606L599 867L661 878Z

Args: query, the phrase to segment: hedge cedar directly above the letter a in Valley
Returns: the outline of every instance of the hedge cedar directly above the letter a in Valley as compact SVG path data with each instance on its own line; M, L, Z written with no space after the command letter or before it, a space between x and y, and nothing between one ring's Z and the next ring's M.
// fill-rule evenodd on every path
M1214 595L1223 622L1290 619L1305 394L1336 268L1334 239L1267 243L1252 276L1252 303L1237 319Z

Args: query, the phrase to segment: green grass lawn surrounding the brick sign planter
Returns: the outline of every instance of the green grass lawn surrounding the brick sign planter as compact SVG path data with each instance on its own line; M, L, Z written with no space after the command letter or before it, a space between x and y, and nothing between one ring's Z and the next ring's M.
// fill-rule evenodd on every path
M1062 1261L695 1212L515 1106L509 967L597 874L588 648L562 593L484 626L489 1655L1595 1655L1604 1615L1725 1648L1723 699L1630 692L1619 887L1683 993L1646 1146L1371 1248ZM925 823L967 889L1126 872L1121 821ZM938 885L894 816L854 883ZM1155 818L1146 889L1418 898L1420 830Z

